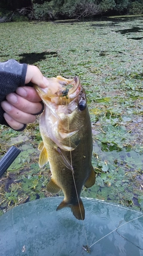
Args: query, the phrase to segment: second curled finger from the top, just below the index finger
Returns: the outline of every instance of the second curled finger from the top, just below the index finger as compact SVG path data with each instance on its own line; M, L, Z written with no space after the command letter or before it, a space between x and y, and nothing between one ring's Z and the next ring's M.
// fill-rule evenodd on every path
M21 110L22 112L29 113L29 114L36 114L41 112L42 105L41 103L32 103L19 95L12 93L8 94L6 97L8 103L13 105L16 109ZM5 104L4 104L5 107Z

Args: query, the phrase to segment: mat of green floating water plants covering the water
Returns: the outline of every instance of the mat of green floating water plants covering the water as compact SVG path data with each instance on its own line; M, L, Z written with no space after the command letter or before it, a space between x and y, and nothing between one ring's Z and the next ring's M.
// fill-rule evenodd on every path
M139 210L143 208L142 20L0 24L0 61L14 58L37 65L46 77L80 76L88 98L97 172L95 185L83 189L82 195ZM1 157L13 144L21 153L0 178L0 214L52 196L46 191L49 166L38 165L40 141L38 121L23 132L1 126Z

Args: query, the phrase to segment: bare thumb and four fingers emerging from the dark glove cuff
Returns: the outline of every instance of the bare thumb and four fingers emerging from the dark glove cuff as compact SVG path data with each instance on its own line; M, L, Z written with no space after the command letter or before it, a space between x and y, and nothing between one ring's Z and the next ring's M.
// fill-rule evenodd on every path
M43 77L41 71L32 65L28 65L25 83L36 83L41 88L48 86L48 80ZM43 104L36 90L29 86L18 87L17 90L6 97L7 101L2 101L1 107L4 109L4 118L11 128L23 130L26 124L36 120L36 114L42 112Z

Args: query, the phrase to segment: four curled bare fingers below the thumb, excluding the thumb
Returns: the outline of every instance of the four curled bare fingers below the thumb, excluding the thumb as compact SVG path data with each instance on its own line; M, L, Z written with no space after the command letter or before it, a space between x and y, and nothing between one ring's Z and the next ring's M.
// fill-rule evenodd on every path
M35 89L29 86L18 87L15 93L8 94L7 101L2 101L4 118L11 128L23 130L26 124L36 120L36 113L42 112L41 98ZM34 114L34 115L33 115Z

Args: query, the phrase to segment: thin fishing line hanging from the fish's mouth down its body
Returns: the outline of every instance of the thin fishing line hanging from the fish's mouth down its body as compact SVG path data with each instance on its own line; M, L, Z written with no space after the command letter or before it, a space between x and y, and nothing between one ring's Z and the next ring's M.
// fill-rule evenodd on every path
M67 100L66 100L66 106L67 106ZM68 127L69 132L70 132L70 125L69 125L69 118L68 118L68 116L67 116L67 127ZM71 147L70 137L69 137L69 146ZM79 197L78 197L78 193L77 193L76 182L75 182L75 179L74 179L74 169L73 169L73 161L72 161L71 150L70 150L70 162L71 162L71 173L73 175L74 188L76 190L76 196L77 196L77 201L78 201L78 204L79 204L80 215L82 217L82 225L83 225L83 229L84 229L84 232L85 232L85 239L86 239L86 243L87 243L87 248L90 249L89 245L88 245L88 238L86 236L85 224L83 222L82 210L81 210L80 203L79 203Z

